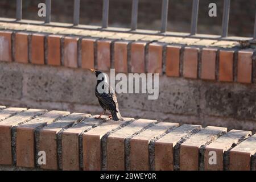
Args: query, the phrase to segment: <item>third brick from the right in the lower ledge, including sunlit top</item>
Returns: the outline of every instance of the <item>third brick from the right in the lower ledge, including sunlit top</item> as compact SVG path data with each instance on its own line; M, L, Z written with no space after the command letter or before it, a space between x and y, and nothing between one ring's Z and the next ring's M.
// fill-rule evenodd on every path
M227 129L224 127L208 126L186 140L180 146L180 170L190 171L199 169L199 148L224 133Z

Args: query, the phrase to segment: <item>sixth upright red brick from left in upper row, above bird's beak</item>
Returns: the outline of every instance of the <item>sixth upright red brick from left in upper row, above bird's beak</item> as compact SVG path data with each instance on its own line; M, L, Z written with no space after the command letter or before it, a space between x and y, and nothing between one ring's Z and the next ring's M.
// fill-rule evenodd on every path
M82 68L94 68L94 43L95 39L82 39Z

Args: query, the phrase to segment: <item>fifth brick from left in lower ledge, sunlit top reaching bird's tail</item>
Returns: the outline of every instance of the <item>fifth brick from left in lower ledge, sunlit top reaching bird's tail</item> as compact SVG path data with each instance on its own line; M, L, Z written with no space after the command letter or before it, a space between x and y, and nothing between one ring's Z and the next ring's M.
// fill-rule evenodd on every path
M117 129L122 123L108 121L82 135L84 170L101 170L101 138L113 129Z

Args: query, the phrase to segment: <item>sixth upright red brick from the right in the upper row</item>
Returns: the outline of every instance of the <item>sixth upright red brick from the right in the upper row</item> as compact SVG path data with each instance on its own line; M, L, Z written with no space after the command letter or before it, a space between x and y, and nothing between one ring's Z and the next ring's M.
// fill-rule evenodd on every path
M162 75L163 44L151 43L148 46L148 73L159 73Z

